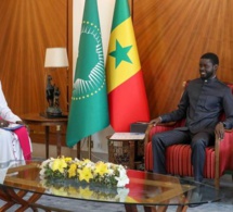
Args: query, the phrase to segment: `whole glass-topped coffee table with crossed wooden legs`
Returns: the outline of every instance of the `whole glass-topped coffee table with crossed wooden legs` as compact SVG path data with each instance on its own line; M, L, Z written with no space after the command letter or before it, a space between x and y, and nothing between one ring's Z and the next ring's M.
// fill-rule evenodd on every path
M177 211L186 211L189 205L220 200L219 191L212 186L135 170L127 171L130 183L124 188L81 184L70 179L54 180L44 186L39 177L40 163L41 161L12 161L11 167L9 163L0 164L0 198L5 201L0 211L8 211L15 203L21 205L18 212L28 208L33 211L65 211L36 203L42 195L125 204L128 212L135 212L137 205L144 205L146 212L161 209L166 211L169 205L177 205ZM27 200L24 199L26 194L31 195Z

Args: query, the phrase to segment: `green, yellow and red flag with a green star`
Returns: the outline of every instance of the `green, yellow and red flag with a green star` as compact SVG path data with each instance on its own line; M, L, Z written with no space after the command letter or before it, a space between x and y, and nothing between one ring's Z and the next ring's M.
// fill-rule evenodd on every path
M116 0L106 75L112 127L116 132L129 132L131 123L150 121L128 0Z

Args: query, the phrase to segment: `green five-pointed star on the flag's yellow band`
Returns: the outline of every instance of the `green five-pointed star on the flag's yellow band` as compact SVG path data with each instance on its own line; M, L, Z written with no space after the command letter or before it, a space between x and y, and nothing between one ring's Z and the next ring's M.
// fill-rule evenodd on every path
M116 50L109 53L109 55L116 59L116 64L115 64L116 67L121 63L121 61L132 63L132 61L128 57L128 52L131 48L132 46L121 47L119 41L116 40Z

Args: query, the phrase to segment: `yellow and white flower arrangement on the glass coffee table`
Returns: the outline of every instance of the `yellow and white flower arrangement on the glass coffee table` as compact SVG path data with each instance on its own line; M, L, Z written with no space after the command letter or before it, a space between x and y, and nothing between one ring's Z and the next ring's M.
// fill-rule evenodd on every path
M129 183L126 169L122 165L96 163L86 160L73 160L72 158L48 159L40 165L41 179L74 179L80 183L95 183L108 187L124 187Z

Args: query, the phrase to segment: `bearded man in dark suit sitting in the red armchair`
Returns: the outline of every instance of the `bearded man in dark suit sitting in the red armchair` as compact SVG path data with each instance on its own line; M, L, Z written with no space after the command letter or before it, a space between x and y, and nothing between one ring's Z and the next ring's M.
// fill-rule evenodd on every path
M233 96L230 88L217 78L218 66L219 59L215 53L202 55L200 77L189 82L178 109L151 121L153 124L158 124L185 119L184 127L153 136L153 172L166 174L165 150L167 147L176 144L190 144L194 179L203 180L205 148L213 145L215 133L219 139L222 139L224 128L233 126ZM225 121L219 122L222 111L225 113Z

